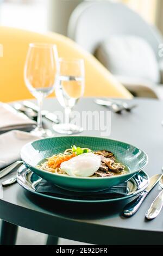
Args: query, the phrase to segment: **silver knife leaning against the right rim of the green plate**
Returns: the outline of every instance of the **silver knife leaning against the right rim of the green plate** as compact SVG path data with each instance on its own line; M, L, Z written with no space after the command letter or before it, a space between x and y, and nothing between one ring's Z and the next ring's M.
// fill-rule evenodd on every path
M122 212L123 216L131 217L137 212L137 210L139 210L143 200L145 200L145 198L147 197L149 192L152 190L152 188L156 184L158 184L158 182L161 179L161 176L162 176L162 174L157 174L157 175L152 176L146 190L143 191L136 199L134 199L132 202L130 202L129 204L127 204L124 207L123 212Z

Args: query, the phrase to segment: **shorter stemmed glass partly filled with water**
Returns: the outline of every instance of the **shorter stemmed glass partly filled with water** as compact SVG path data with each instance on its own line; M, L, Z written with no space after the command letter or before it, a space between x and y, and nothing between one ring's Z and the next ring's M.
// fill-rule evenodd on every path
M70 123L72 108L84 94L85 71L83 59L59 59L59 76L55 84L55 95L65 109L65 123L53 125L53 130L72 135L83 131L82 127Z

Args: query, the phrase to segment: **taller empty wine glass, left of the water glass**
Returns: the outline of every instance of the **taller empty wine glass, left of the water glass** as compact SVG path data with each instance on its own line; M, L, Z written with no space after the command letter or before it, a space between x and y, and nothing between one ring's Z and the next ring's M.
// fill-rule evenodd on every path
M37 99L39 112L37 127L31 133L49 137L52 131L42 127L42 101L54 91L59 70L57 46L53 44L30 44L24 68L24 80L30 93Z

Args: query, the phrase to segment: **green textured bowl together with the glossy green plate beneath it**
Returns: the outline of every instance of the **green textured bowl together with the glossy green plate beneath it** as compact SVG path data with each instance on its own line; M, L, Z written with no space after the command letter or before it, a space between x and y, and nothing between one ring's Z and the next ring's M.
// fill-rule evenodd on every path
M63 153L72 145L89 148L93 151L104 149L111 151L116 160L127 166L129 171L122 175L90 178L52 173L36 167L47 157ZM111 139L82 136L45 138L26 144L21 150L21 157L26 164L18 169L18 183L26 190L46 198L82 203L113 202L136 196L145 190L149 184L148 175L142 170L148 162L146 153L133 145ZM44 181L45 183L43 183ZM57 192L60 191L59 193L40 192L38 187L42 186L41 184L46 184L46 186L51 184L52 187L57 187ZM121 185L125 187L125 193L116 193L115 191L106 197L100 197L98 194L103 193L103 191L109 193L109 189L112 190L112 187L118 190ZM81 196L82 193L83 197ZM78 194L79 197L75 196ZM90 194L93 196L90 197Z

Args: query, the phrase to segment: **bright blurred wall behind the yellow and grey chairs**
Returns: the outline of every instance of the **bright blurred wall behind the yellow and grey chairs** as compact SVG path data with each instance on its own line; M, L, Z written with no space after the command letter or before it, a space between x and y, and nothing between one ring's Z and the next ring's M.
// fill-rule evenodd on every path
M0 0L0 24L2 26L29 29L36 32L55 31L66 35L67 22L73 9L85 1ZM156 25L163 34L162 0L112 1L123 2L128 5L147 22Z

